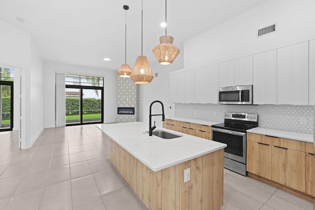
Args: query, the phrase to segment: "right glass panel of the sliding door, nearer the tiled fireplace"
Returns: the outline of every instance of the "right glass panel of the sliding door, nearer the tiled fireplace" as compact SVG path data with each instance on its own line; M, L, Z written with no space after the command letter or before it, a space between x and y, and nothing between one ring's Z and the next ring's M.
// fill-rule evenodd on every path
M102 91L82 89L82 119L83 123L101 122L102 120Z

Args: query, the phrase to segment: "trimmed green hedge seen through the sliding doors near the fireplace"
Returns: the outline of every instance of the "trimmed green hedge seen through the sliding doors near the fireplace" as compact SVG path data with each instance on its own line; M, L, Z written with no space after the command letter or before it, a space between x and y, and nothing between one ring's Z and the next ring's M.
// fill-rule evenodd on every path
M79 98L65 98L65 110L80 110ZM99 110L99 111L84 111L83 114L98 114L101 113L102 100L100 98L83 98L83 110ZM79 112L66 112L68 115L78 115Z

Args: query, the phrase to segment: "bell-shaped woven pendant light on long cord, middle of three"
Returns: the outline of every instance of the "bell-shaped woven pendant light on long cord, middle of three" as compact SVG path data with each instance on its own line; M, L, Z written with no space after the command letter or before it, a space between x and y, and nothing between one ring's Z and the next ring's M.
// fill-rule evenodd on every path
M146 56L142 55L143 47L143 0L142 0L142 10L141 10L141 56L138 56L136 63L133 66L133 71L131 72L131 80L135 84L149 84L153 80L153 72L151 71L149 61Z

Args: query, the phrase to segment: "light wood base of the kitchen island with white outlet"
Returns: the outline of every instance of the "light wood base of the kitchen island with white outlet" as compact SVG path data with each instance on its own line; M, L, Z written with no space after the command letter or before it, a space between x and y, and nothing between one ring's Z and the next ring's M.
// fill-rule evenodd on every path
M111 163L149 210L220 210L223 205L223 149L152 171L110 141ZM184 170L190 180L184 182Z

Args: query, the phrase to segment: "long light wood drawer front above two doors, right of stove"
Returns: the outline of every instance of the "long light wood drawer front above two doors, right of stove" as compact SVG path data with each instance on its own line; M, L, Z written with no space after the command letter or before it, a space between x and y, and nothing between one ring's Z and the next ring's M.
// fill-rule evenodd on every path
M274 136L267 136L255 133L248 133L247 138L252 142L259 142L266 145L277 146L290 150L305 151L305 142L291 139L284 139Z

